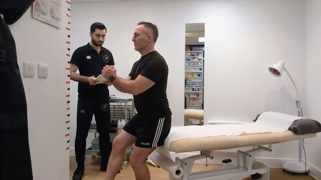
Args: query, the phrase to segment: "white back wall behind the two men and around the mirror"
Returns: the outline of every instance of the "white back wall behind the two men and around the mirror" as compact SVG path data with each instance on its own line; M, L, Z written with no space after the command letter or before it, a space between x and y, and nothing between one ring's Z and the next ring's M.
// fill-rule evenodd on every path
M72 51L90 41L89 27L107 26L104 47L126 77L140 58L131 41L136 23L159 28L156 49L169 65L168 98L173 126L184 122L185 23L205 22L204 121L252 121L278 111L296 115L295 90L286 74L274 78L268 67L281 60L299 86L305 104L305 2L301 0L200 0L74 3ZM191 9L198 9L192 13ZM165 12L167 11L167 12ZM116 18L115 18L116 17ZM71 84L71 141L76 129L76 83ZM113 87L110 94L120 94ZM93 136L89 135L89 142ZM71 143L72 145L73 143ZM71 146L72 147L72 146ZM261 157L297 159L297 142L276 144Z

